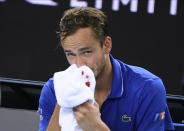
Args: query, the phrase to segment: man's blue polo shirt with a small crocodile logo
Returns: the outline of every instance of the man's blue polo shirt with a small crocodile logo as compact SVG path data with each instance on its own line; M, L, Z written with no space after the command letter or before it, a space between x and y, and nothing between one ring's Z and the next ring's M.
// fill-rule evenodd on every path
M114 59L112 89L101 107L101 118L111 131L164 131L174 126L162 80L147 70ZM40 100L40 131L46 130L56 105L53 78Z

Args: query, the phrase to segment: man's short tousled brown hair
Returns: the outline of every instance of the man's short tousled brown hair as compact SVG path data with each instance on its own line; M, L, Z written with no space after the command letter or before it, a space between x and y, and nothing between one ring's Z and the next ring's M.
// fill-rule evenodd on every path
M59 36L61 42L74 34L79 28L91 27L94 37L100 41L101 46L108 36L108 22L106 15L95 8L73 8L66 10L61 18Z

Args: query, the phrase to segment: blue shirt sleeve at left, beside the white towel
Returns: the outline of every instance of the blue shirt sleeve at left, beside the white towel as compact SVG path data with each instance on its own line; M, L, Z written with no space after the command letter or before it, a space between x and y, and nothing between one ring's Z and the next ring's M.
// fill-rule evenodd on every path
M40 114L39 131L46 131L50 118L54 112L56 105L56 97L53 87L53 79L49 79L43 86L40 99L38 112Z

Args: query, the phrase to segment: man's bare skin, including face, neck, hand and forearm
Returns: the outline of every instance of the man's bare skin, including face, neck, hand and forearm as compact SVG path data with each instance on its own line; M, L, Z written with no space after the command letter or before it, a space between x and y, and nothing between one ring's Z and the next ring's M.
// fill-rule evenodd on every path
M86 102L73 109L78 124L84 131L109 131L110 129L101 120L99 109L111 91L113 76L109 58L112 48L111 37L107 36L101 46L90 27L80 28L74 34L67 36L62 46L69 64L76 64L78 67L88 66L96 78L95 104ZM49 123L48 129L53 127L49 129L50 131L58 129L51 126L52 123L58 123L56 117L59 115L58 110L57 104Z

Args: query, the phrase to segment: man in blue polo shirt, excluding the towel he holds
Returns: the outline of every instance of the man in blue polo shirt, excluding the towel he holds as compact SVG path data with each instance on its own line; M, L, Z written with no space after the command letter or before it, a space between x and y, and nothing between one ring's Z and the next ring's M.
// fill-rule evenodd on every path
M96 79L96 103L73 109L79 126L84 131L173 130L161 79L114 59L107 28L106 16L95 8L67 10L60 22L61 45L69 64L90 67ZM61 130L62 107L56 103L51 78L40 96L40 130Z

